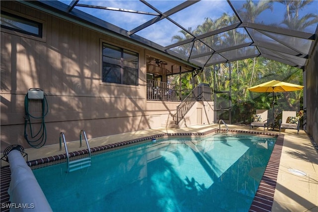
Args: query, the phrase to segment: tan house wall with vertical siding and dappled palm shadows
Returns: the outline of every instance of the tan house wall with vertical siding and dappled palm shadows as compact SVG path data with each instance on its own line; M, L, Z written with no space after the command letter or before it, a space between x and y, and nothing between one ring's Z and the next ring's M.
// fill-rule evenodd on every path
M24 98L41 88L48 102L45 145L79 140L80 130L96 138L157 128L175 113L177 103L146 98L146 55L155 53L75 23L20 4L1 1L1 10L43 23L43 38L1 28L1 152L11 145L30 145L24 139ZM139 54L139 84L101 82L102 43ZM39 100L29 111L41 116ZM37 132L41 120L34 121Z

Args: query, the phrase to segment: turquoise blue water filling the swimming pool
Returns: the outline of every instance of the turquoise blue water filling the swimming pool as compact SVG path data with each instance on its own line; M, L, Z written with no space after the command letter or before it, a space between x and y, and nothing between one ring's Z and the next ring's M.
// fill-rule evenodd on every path
M246 212L276 138L159 139L33 170L55 212Z

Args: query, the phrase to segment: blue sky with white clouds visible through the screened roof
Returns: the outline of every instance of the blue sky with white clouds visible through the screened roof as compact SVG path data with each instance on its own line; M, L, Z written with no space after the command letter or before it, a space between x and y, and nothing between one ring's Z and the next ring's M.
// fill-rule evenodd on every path
M71 0L62 2L70 4ZM163 13L182 3L183 1L147 0L147 2L155 6L159 10L159 12ZM231 1L231 3L236 8L239 8L244 2L246 1ZM151 9L139 0L79 0L78 3L157 13L155 10ZM315 1L314 3L315 6L311 6L308 9L310 10L310 12L318 14L318 1ZM112 11L79 6L76 6L75 8L92 14L127 31L133 30L141 24L156 17L155 15L137 14L131 12ZM283 5L281 3L275 2L274 10L267 10L266 12L263 12L262 14L260 14L257 21L265 22L268 24L273 22L278 23L280 20L283 19L284 11L285 9L283 8ZM192 29L195 29L199 24L202 24L204 22L205 18L210 17L212 19L217 19L221 17L223 13L230 13L231 15L234 13L231 6L226 0L201 0L169 17L179 23L185 29L188 29L190 27ZM168 46L176 42L176 40L171 39L172 36L182 36L182 34L179 32L180 30L181 28L177 27L169 20L163 19L147 27L146 29L137 32L136 34L155 43L158 43L161 46ZM316 27L312 27L311 29L309 29L309 31L313 33L315 32L315 30Z

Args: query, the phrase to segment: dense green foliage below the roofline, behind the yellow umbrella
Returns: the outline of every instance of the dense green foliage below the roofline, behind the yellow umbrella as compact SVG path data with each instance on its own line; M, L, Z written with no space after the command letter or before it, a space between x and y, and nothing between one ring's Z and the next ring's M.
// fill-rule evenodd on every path
M182 89L191 89L192 82L196 86L204 81L215 91L229 91L231 84L232 123L249 124L251 115L255 113L256 109L268 109L269 118L272 120L272 93L257 93L247 90L248 87L272 79L301 85L303 72L300 69L276 61L252 58L232 62L231 64L206 67L194 79L191 73L182 74L181 84ZM178 80L178 77L174 78L177 84L179 83ZM276 127L278 126L279 114L283 110L299 111L303 108L302 98L302 90L275 93L274 117ZM222 102L216 103L216 105L222 104Z

